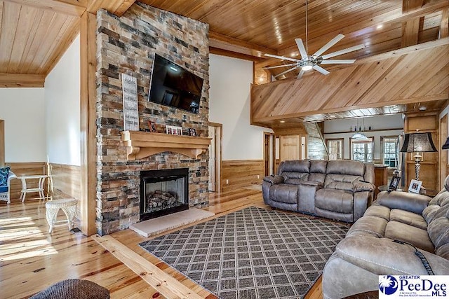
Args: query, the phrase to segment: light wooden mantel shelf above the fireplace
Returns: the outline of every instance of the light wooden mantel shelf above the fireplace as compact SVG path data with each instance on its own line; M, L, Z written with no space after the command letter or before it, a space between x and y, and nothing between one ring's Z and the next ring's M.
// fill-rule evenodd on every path
M146 158L156 153L171 151L187 155L192 159L206 151L210 138L150 133L140 131L123 131L121 140L126 146L129 160Z

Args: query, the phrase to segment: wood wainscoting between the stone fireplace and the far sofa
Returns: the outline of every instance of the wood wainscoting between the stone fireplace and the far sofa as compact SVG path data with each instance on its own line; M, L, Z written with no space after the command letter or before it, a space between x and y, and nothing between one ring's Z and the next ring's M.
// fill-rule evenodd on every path
M222 190L224 192L262 183L263 178L264 160L226 160L222 162Z

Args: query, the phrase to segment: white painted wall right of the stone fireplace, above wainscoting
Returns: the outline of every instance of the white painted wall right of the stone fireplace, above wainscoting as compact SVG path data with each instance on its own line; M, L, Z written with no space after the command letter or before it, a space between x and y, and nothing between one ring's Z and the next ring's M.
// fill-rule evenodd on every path
M264 127L250 125L253 62L209 55L209 120L223 125L223 160L262 160Z

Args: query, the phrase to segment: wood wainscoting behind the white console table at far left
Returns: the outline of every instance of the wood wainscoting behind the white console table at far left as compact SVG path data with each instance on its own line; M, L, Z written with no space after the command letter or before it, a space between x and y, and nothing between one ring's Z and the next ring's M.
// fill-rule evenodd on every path
M6 166L11 166L11 171L16 176L31 175L31 174L46 174L45 162L6 162ZM37 179L27 180L27 187L37 187ZM45 183L45 188L47 184ZM11 202L18 202L20 197L20 190L22 190L22 182L20 179L13 179L11 181ZM25 200L38 196L38 193L29 193Z

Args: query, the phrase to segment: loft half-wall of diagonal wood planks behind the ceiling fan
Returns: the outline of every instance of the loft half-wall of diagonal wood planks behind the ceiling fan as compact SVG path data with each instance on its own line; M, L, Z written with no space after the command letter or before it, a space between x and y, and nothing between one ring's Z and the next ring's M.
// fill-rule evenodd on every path
M251 123L448 98L449 38L251 87Z

